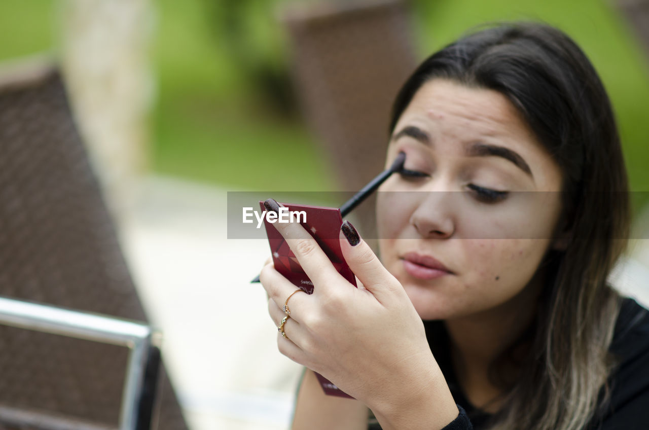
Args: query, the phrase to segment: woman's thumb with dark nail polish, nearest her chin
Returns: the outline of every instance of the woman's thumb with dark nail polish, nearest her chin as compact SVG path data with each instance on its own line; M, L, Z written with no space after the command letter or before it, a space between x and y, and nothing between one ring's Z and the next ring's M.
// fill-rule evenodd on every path
M383 266L349 221L345 221L341 227L340 242L350 269L378 301L395 291L402 291L397 279Z

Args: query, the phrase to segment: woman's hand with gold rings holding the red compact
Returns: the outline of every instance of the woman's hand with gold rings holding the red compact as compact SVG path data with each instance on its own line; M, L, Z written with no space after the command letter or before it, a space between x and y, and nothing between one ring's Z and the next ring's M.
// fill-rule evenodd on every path
M267 210L278 210L274 200L264 204ZM437 399L435 386L440 382L441 390L448 392L406 292L348 221L341 229L341 249L360 288L339 275L299 223L276 228L314 285L312 295L291 297L290 318L282 324L286 337L278 333L280 352L321 373L375 414L418 407L431 393ZM280 325L295 285L272 263L264 266L260 279L269 295L269 313ZM452 398L450 402L456 416Z

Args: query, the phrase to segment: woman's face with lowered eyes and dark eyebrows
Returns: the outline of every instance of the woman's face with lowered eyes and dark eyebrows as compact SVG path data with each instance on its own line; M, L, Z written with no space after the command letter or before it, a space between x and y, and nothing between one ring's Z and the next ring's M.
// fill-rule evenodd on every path
M419 173L381 186L379 245L421 318L516 307L561 212L559 166L519 112L493 90L433 79L399 118L386 166L400 151Z

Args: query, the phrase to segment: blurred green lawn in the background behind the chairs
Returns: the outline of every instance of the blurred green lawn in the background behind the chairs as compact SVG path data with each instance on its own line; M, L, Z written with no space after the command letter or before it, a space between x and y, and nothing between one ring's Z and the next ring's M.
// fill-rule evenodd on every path
M288 46L275 19L281 4L153 2L157 96L149 157L155 172L228 190L334 189L291 94ZM411 5L421 58L485 21L542 19L567 31L609 90L632 190L649 190L649 61L612 0L419 0ZM58 13L56 0L0 2L0 59L56 49Z

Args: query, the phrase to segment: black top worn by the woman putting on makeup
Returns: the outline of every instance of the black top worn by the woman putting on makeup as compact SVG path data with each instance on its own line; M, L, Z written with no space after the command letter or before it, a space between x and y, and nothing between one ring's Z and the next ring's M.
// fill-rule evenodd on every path
M649 311L633 299L624 299L615 324L611 353L618 366L610 377L611 398L598 418L587 425L588 430L649 429ZM440 366L442 364L440 363ZM452 373L452 372L447 372ZM480 430L490 414L469 403L456 383L454 375L447 383L460 411L458 418L443 430ZM468 418L467 418L468 417ZM369 430L380 425L369 424Z

